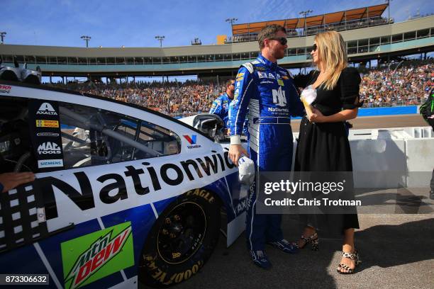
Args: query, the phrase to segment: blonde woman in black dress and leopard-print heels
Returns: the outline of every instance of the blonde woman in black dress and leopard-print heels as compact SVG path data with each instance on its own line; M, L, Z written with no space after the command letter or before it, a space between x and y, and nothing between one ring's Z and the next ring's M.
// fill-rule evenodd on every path
M350 143L345 132L345 120L357 117L360 75L347 67L347 54L342 36L335 31L315 37L311 55L318 71L296 77L298 87L311 85L316 99L312 113L301 120L294 171L351 172ZM309 242L318 249L318 229L328 227L343 234L343 258L339 273L352 273L359 263L354 246L354 230L359 228L356 214L301 215L306 227L297 242L303 248Z

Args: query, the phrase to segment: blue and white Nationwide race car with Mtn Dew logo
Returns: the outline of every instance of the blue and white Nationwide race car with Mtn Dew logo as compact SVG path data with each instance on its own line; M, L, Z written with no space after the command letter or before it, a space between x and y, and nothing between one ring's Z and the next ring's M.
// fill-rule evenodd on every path
M5 80L0 110L1 173L36 176L0 193L0 273L48 274L48 288L167 287L204 266L221 231L229 246L244 230L249 188L215 141L216 115L189 119L198 130Z

